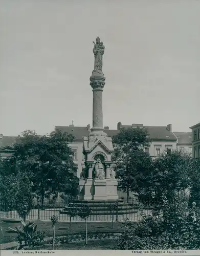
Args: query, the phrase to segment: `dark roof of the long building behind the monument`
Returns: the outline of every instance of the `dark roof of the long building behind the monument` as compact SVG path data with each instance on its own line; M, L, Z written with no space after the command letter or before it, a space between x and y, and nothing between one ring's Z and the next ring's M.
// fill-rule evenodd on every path
M131 127L131 125L122 125L121 127ZM175 135L170 132L166 126L144 126L151 139L155 140L176 140ZM82 126L56 126L56 130L66 132L75 136L75 140L82 140L84 136L88 136L87 127ZM119 130L104 130L108 137L112 137L119 133Z

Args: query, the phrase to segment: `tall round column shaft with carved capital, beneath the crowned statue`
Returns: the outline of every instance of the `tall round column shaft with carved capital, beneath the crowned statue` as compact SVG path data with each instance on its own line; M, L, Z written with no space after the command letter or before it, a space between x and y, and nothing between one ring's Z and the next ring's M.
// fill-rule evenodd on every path
M103 129L103 109L102 92L105 84L104 76L91 76L91 87L93 88L93 127L91 131L102 131Z

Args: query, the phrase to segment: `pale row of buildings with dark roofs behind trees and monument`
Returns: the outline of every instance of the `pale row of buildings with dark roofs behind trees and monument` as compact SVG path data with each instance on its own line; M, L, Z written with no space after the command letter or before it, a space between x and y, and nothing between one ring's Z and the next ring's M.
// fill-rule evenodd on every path
M144 126L143 124L122 125L117 124L116 130L110 130L108 126L104 126L104 131L108 137L117 135L122 127L144 127L150 135L150 147L145 148L152 158L160 156L163 151L184 150L190 153L192 151L191 133L172 132L171 124L166 126ZM84 165L85 157L83 155L83 137L88 136L90 125L87 126L56 126L56 130L74 135L75 139L69 146L74 152L74 162L78 165L77 176L80 178L80 173ZM200 124L199 124L200 129ZM0 135L0 156L2 159L13 154L13 145L16 143L17 137ZM199 140L200 145L200 140Z

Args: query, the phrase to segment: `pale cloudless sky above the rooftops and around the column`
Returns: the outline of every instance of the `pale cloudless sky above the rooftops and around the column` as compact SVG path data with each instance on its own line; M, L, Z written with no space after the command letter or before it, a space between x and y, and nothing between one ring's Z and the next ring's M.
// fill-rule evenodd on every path
M200 1L1 0L0 133L92 124L93 41L105 45L103 124L198 123Z

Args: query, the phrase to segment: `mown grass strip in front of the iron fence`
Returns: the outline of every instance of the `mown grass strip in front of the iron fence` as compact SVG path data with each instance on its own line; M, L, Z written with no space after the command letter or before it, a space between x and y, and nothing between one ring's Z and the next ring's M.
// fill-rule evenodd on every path
M45 221L35 221L37 224L38 230L46 231L47 237L52 237L53 230L52 230L52 224L51 222L45 222ZM20 226L20 221L14 221L14 220L0 220L0 226L3 229L3 236L1 232L1 238L0 238L0 244L8 243L12 241L16 241L16 234L12 233L12 231L9 230L8 227L18 227ZM82 233L85 232L85 223L84 222L72 222L71 223L71 231L69 230L70 223L69 222L58 222L56 225L56 237L59 236L66 236L67 234L72 233ZM114 228L112 228L111 222L87 222L87 230L88 233L90 232L121 232L123 230L122 228L122 222L114 222Z

